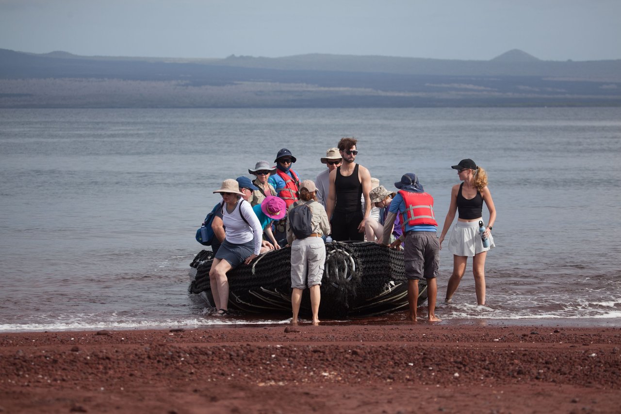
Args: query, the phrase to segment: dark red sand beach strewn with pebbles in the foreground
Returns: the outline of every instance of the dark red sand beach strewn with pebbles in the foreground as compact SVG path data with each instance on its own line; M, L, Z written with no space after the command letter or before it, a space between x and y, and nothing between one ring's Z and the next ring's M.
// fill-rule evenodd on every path
M621 329L0 334L0 413L619 413Z

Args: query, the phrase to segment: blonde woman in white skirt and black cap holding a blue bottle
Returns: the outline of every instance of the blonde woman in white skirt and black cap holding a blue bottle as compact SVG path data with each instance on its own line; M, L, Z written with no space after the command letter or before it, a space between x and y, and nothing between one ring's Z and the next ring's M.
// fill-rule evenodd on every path
M491 231L496 221L496 208L487 188L487 173L483 168L477 167L471 159L461 160L451 168L458 171L457 175L463 183L454 185L451 190L451 205L440 235L440 249L442 249L446 232L455 219L455 212L458 212L457 223L448 240L448 250L453 253L453 274L448 280L444 301L450 303L466 272L468 257L472 257L476 300L479 305L485 305L485 257L487 251L495 247ZM489 247L483 247L479 233L479 221L483 221L483 202L489 211L489 221L483 233L484 237L489 238Z

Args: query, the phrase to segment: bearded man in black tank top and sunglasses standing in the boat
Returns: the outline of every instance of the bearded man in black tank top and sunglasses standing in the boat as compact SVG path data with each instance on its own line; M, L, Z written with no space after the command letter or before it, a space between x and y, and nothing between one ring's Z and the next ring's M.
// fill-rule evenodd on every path
M364 241L365 221L371 213L371 173L355 162L358 154L356 142L354 138L342 138L338 142L343 163L330 172L326 213L334 241ZM361 195L365 196L364 213Z

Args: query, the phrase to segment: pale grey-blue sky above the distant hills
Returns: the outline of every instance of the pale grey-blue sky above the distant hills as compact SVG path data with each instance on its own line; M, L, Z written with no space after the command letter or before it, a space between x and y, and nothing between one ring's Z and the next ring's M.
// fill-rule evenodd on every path
M0 48L222 58L303 53L621 58L621 0L0 0Z

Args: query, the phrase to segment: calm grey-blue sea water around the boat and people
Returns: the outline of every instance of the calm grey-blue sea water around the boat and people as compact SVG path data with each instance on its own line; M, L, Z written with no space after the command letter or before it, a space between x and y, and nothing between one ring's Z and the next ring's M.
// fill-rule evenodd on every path
M389 189L417 173L441 223L450 165L488 171L487 305L468 267L440 318L621 326L621 108L1 109L0 331L222 323L188 295L212 191L281 147L314 179L342 136Z

